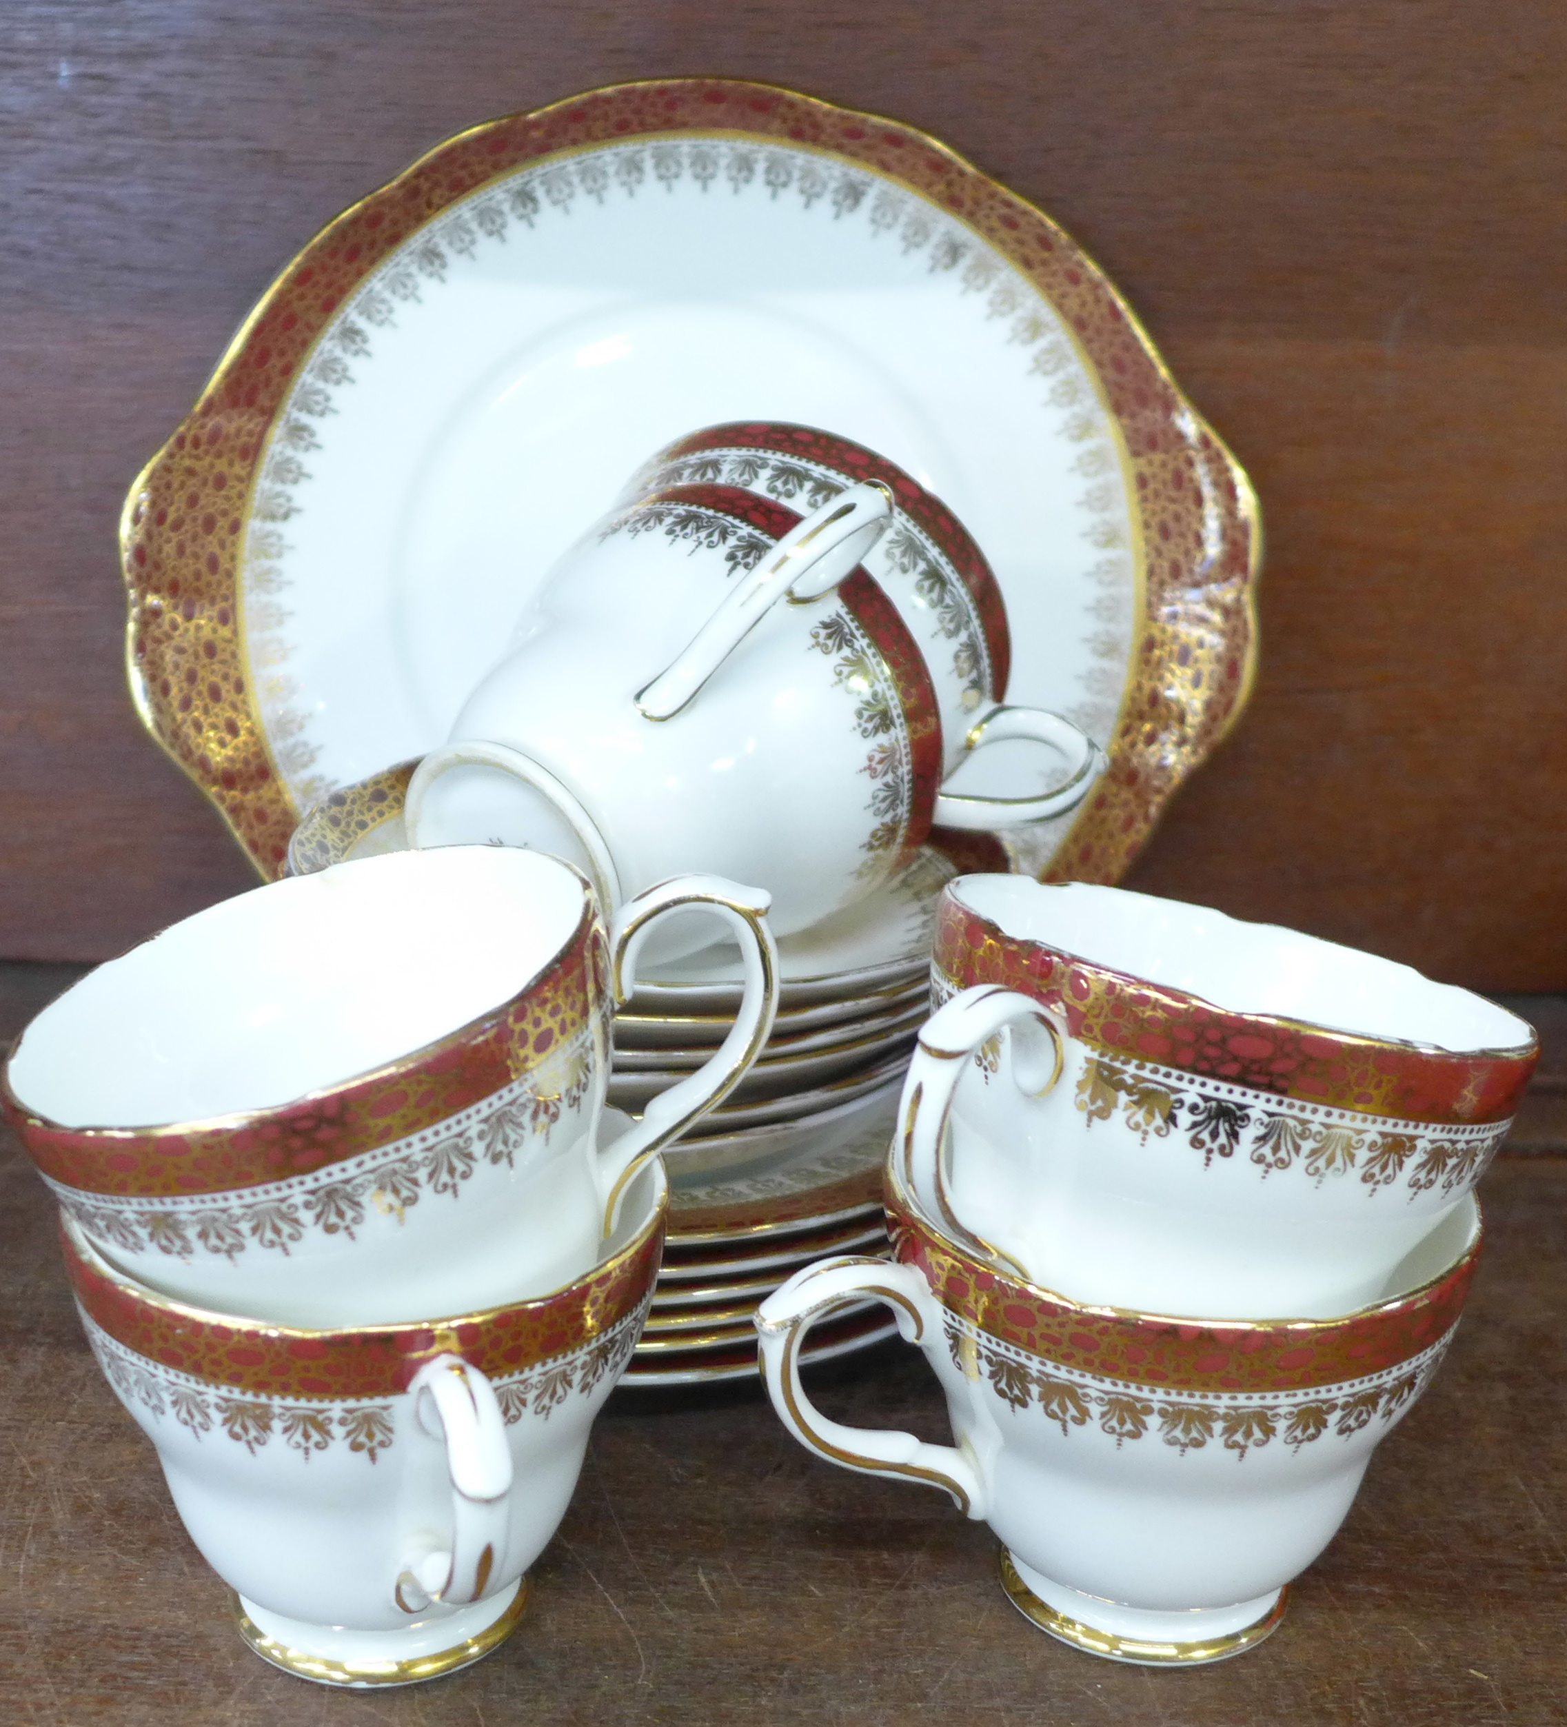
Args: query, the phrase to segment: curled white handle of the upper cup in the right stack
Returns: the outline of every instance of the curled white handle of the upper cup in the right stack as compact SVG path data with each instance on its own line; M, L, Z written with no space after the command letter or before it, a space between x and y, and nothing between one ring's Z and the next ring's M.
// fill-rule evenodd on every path
M1054 1007L978 983L936 1009L919 1033L898 1102L904 1185L959 1242L1021 1273L1009 1254L974 1235L952 1211L947 1193L947 1117L969 1057L999 1031L1012 1031L1012 1079L1025 1097L1045 1097L1066 1066L1071 1029Z

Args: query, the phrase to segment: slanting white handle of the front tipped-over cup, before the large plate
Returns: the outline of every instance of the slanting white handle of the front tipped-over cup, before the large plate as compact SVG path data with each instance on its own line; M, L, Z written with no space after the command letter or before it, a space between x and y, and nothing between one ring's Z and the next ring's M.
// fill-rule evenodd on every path
M885 485L850 485L790 528L772 553L724 596L684 653L638 691L636 705L643 717L674 718L783 594L805 603L834 589L881 539L891 508L891 492Z

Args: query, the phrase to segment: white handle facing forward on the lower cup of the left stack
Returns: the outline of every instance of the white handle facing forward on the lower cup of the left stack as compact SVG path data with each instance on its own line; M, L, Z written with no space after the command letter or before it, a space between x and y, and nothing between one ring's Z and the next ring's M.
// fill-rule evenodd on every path
M446 1444L451 1475L451 1546L409 1556L394 1587L404 1613L432 1601L482 1601L506 1551L511 1447L494 1387L461 1356L435 1356L408 1387L418 1425Z

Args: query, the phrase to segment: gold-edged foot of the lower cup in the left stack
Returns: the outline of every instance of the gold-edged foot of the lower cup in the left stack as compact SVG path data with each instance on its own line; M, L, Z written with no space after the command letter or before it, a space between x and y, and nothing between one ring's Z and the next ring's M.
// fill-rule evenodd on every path
M230 1606L240 1635L263 1661L318 1686L371 1691L416 1686L484 1660L517 1629L527 1597L527 1578L520 1577L487 1601L475 1601L441 1620L390 1632L306 1625L270 1613L237 1592ZM430 1648L432 1644L439 1648Z

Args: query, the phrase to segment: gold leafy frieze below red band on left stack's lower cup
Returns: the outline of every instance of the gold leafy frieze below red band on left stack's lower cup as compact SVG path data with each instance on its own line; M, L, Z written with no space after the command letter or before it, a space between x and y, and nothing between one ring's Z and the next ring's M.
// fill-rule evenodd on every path
M548 1421L568 1397L591 1395L605 1378L613 1385L631 1361L644 1316L646 1302L570 1354L542 1361L525 1373L496 1376L496 1402L506 1427L515 1427L525 1414ZM392 1402L232 1394L209 1380L174 1373L136 1356L114 1342L86 1313L81 1313L81 1323L119 1401L128 1409L143 1409L155 1421L176 1421L192 1439L226 1435L252 1458L276 1444L297 1451L306 1461L325 1451L346 1451L375 1463L384 1451L390 1451L397 1437L397 1411Z

